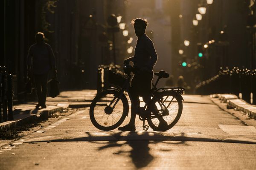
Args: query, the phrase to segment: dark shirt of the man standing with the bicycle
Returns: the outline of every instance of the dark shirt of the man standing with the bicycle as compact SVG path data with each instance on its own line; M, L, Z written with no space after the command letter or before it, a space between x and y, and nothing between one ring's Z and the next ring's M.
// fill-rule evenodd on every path
M155 63L157 62L157 53L154 44L146 34L143 34L140 39L137 40L133 62L134 67L147 67L151 70L153 70Z

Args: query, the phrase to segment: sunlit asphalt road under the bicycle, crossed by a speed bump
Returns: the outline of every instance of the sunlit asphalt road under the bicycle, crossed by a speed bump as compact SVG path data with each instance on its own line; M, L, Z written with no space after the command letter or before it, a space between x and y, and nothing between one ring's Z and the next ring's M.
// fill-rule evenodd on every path
M255 170L255 120L223 111L209 96L183 97L182 116L166 132L144 131L139 119L136 132L104 132L89 108L51 119L0 150L0 170Z

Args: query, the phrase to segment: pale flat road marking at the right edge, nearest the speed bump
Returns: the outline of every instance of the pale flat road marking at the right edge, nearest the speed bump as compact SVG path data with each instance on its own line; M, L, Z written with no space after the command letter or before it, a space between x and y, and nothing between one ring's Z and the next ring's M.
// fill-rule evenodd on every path
M221 130L230 135L250 136L256 135L256 128L254 126L241 126L241 125L218 125Z

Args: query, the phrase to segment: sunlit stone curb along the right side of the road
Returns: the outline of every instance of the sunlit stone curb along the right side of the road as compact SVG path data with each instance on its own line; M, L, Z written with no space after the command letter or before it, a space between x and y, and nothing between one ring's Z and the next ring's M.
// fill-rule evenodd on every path
M219 98L228 104L227 107L236 108L236 110L243 111L248 116L256 119L256 105L250 105L234 94L212 94L211 97Z

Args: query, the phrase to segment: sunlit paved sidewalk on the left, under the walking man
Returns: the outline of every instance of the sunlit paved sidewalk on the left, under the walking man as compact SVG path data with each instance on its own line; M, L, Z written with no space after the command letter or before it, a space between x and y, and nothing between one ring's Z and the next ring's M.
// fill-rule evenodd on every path
M40 110L35 110L37 102L14 105L14 120L0 123L0 130L12 129L18 125L29 123L38 117L47 118L53 113L67 108L89 107L96 93L96 90L63 91L55 98L47 97L47 108Z

